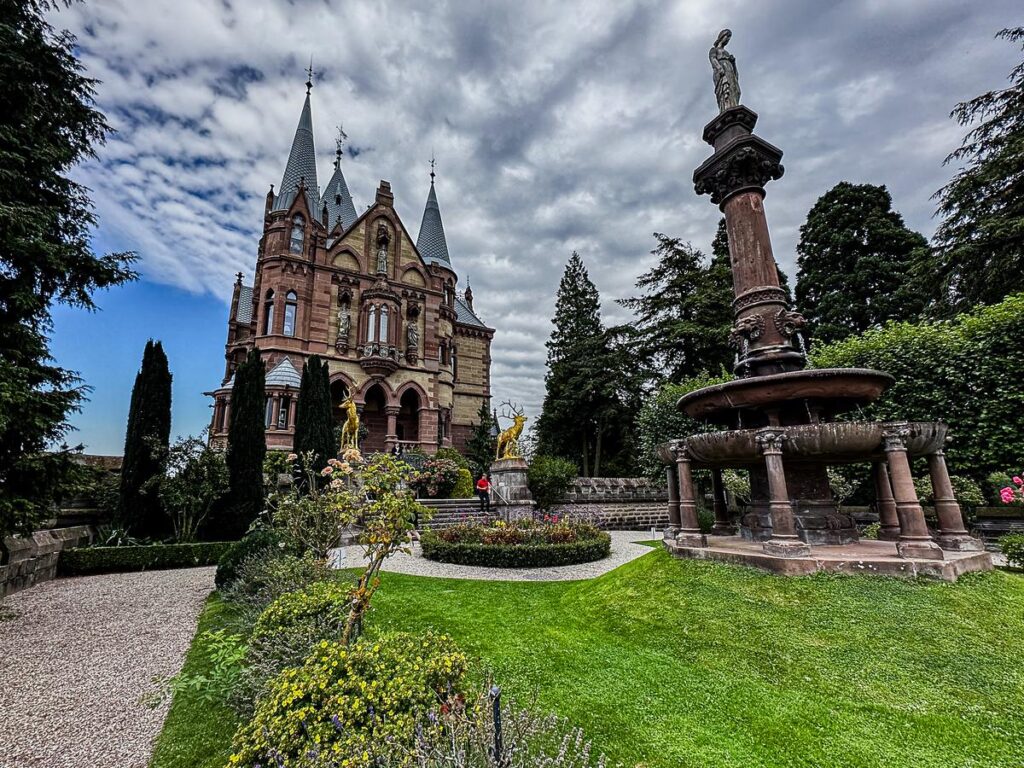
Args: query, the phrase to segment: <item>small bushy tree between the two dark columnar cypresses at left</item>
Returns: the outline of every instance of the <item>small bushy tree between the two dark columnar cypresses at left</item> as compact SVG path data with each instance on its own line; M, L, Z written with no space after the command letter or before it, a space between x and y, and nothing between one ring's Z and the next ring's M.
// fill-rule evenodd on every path
M171 445L163 470L154 482L171 520L174 541L194 542L214 505L227 493L224 455L210 447L205 436L189 435Z

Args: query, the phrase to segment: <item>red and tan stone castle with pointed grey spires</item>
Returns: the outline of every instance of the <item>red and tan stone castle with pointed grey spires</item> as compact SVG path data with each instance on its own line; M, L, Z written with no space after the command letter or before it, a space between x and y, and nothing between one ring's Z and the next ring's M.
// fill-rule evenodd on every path
M434 172L416 240L394 210L391 185L357 214L341 169L316 183L310 90L281 188L266 196L252 286L239 273L227 322L224 377L210 438L227 439L236 367L256 347L266 364L266 444L289 451L302 367L328 361L331 398L351 395L364 451L396 444L461 449L490 396L488 328L460 292L441 223Z

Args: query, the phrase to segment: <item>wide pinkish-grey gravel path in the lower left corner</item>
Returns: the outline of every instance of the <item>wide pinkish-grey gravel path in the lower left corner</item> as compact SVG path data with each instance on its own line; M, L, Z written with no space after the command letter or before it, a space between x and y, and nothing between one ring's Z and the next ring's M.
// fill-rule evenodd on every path
M144 768L214 568L60 579L7 597L0 621L0 768Z

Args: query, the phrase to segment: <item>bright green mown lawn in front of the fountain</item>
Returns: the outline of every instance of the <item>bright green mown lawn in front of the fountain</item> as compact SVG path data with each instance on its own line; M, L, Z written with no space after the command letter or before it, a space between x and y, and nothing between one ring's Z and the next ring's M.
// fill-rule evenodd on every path
M1016 574L787 579L662 551L590 582L386 574L370 631L428 627L628 766L961 768L1024 755ZM204 717L175 701L154 765L221 765L229 728ZM164 759L200 733L216 761Z

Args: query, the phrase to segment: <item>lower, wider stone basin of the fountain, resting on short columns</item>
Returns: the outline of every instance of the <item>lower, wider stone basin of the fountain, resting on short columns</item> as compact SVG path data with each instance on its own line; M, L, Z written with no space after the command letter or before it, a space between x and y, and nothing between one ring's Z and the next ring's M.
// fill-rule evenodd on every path
M942 422L829 422L779 427L785 432L782 455L787 460L825 464L883 459L883 433L896 425L910 430L907 453L910 456L933 454L946 439ZM757 443L758 429L732 429L725 432L702 432L682 442L689 449L697 465L742 467L759 464L763 457ZM659 452L663 461L668 456Z

